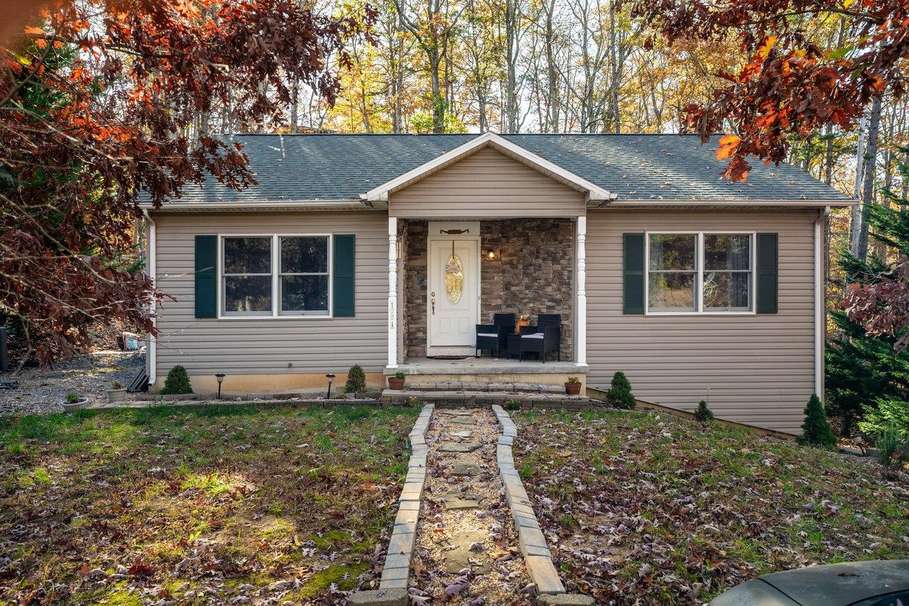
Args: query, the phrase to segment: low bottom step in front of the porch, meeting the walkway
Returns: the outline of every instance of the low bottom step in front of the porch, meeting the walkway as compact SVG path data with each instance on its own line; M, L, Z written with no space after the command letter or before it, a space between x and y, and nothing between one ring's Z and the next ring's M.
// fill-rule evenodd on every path
M572 409L586 410L591 406L591 399L586 396L568 396L564 392L554 393L515 393L511 391L421 391L418 389L385 389L380 401L389 406L410 404L410 399L421 403L435 404L445 408L486 408L493 404L504 405L508 400L517 400L521 406L530 409Z

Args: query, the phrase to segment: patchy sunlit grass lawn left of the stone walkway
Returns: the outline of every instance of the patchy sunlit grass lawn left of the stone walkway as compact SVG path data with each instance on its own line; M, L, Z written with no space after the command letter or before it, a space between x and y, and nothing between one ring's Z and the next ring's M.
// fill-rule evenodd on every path
M0 603L332 603L375 580L417 409L0 419Z

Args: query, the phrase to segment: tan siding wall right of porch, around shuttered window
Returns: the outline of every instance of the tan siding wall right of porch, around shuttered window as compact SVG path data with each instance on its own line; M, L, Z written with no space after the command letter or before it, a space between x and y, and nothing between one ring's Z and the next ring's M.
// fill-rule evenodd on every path
M623 370L639 399L798 433L814 391L816 211L598 211L587 227L587 349L591 387ZM747 316L622 313L622 234L642 231L779 234L779 312Z

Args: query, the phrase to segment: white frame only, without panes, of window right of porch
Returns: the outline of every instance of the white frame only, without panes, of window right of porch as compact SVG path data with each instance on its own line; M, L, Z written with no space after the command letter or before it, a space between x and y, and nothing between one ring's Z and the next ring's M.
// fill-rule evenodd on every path
M690 309L651 309L650 308L650 237L654 236L685 236L694 235L694 311ZM704 236L747 236L749 238L749 278L748 278L748 307L749 309L704 309ZM679 230L653 230L644 231L644 316L754 316L755 292L754 277L757 273L755 267L755 243L757 232L741 230L711 230L711 231L679 231Z

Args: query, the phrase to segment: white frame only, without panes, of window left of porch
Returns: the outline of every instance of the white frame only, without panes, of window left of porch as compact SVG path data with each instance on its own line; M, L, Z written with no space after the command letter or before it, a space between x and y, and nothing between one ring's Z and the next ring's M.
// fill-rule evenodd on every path
M272 241L272 311L258 314L243 312L225 312L225 288L224 288L224 241L228 237L270 237ZM282 237L325 237L327 238L328 247L328 310L327 313L321 311L281 311L281 238ZM335 313L335 289L332 288L335 277L335 242L334 234L218 234L218 252L217 252L217 284L216 295L218 300L218 319L236 320L236 319L255 319L255 320L274 320L274 319L331 319ZM285 274L288 276L306 275L306 274ZM321 274L320 274L321 275Z

